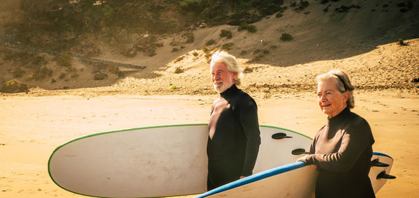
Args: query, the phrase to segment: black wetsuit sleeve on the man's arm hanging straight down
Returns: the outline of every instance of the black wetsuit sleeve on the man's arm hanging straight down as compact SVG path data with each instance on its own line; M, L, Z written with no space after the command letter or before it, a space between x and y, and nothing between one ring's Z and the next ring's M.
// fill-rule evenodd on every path
M253 172L253 167L258 157L260 145L260 130L258 122L258 107L256 102L249 98L249 100L242 100L238 110L238 117L240 124L244 130L244 135L247 138L246 156L244 158L244 165L242 169L242 176L250 176Z

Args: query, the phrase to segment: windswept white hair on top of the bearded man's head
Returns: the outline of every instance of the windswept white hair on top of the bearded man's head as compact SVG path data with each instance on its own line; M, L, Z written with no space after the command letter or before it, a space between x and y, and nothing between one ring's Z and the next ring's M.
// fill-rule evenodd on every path
M242 68L238 66L235 56L232 56L227 52L217 51L211 57L210 66L214 66L215 63L226 63L227 70L229 70L231 73L237 73L237 77L235 78L235 84L240 85Z

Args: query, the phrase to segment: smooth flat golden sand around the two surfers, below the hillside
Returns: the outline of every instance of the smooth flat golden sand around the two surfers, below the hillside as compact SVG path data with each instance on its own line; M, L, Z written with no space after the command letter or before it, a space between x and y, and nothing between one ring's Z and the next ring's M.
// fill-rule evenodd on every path
M418 197L419 96L402 90L356 93L356 107L372 126L374 151L395 159L377 197ZM47 172L52 151L94 132L149 125L207 123L218 96L0 96L1 197L82 197L55 185ZM313 137L325 123L313 93L255 96L260 124ZM205 153L203 153L205 155Z

